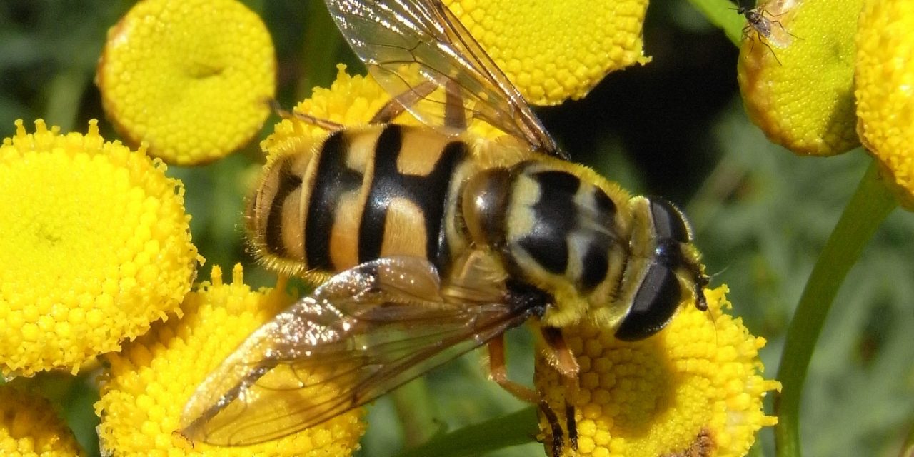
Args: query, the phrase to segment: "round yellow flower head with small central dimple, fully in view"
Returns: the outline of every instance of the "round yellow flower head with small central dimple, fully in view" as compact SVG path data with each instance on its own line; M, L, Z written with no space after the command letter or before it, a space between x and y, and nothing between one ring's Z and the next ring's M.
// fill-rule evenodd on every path
M270 33L235 0L143 0L108 32L96 83L133 143L193 165L248 143L270 114Z

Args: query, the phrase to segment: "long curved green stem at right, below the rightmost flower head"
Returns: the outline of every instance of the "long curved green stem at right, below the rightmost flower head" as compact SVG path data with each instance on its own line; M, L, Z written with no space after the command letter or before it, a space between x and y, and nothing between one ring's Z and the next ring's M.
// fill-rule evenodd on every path
M866 243L898 200L882 182L874 161L847 203L832 235L819 255L793 314L781 354L781 395L775 399L778 425L774 431L778 455L799 457L799 411L806 369L813 356L825 317L847 271L860 257Z

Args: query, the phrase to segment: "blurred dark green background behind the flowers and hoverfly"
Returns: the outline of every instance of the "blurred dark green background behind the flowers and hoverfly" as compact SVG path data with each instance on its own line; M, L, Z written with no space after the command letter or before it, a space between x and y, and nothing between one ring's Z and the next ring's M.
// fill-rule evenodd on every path
M264 18L279 62L279 100L291 107L326 86L338 61L360 69L317 0L246 2ZM0 2L0 136L13 122L43 118L63 131L84 132L102 120L92 79L108 27L133 2L3 0ZM736 12L733 13L736 15ZM645 49L654 61L609 75L582 101L537 110L574 160L635 193L668 197L685 208L713 284L727 283L734 313L755 335L774 377L786 325L813 262L869 162L861 150L828 159L801 158L772 145L743 112L736 83L737 49L685 0L653 0ZM271 130L272 118L262 135ZM169 167L186 185L194 242L211 265L241 261L250 282L270 273L250 265L240 228L241 207L261 154L257 142L218 163ZM812 456L888 456L914 419L914 218L896 210L850 272L825 324L802 403L802 444ZM510 333L511 374L532 373L532 338ZM97 452L89 374L46 375L80 441ZM425 391L428 395L425 395ZM425 415L441 430L491 419L523 407L485 379L470 354L435 370L371 409L360 455L386 456L402 447L395 412ZM406 405L406 406L404 406ZM418 412L417 412L418 411ZM755 452L773 455L771 430ZM541 455L530 443L499 456Z

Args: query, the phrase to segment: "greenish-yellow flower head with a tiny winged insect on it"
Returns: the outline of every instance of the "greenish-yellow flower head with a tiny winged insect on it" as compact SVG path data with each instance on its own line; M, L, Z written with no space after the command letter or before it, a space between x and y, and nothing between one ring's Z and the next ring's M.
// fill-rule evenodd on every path
M855 132L854 31L863 0L768 0L748 28L739 89L749 119L796 154L841 154Z

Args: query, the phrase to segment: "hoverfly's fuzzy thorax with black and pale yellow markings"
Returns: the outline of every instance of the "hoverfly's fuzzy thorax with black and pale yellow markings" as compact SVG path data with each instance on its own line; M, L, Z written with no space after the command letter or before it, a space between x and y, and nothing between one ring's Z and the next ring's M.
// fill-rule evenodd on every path
M610 197L581 170L527 160L474 175L462 192L468 237L497 252L517 279L555 295L558 313L579 314L592 293L606 295L626 249L614 198L624 204L627 196Z

